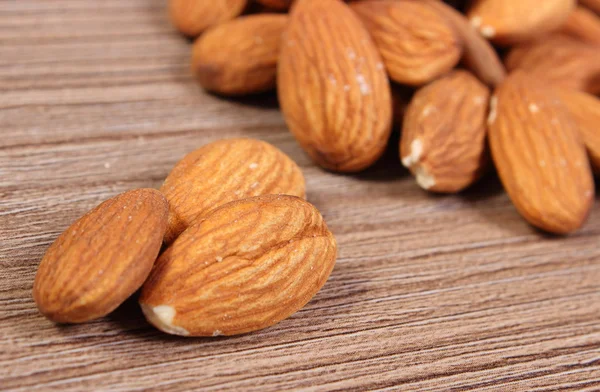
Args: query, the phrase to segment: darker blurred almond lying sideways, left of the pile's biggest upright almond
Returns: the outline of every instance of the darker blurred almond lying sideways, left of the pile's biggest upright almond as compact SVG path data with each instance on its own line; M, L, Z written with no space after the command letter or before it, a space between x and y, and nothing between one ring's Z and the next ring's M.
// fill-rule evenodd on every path
M192 72L200 85L222 95L274 89L287 21L287 15L257 14L207 30L192 51Z

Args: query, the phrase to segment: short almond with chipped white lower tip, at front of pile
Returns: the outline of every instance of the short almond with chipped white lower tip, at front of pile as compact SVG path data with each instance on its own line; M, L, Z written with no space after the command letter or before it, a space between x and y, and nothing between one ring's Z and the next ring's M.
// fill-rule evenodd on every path
M422 87L404 118L400 156L417 183L455 193L473 184L487 163L489 89L467 71Z

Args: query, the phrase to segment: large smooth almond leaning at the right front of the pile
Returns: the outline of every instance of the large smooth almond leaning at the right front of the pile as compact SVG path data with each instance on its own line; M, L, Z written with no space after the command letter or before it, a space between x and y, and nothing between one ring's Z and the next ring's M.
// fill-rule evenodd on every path
M496 89L489 142L504 188L529 223L556 234L583 225L592 172L575 123L544 82L517 71Z

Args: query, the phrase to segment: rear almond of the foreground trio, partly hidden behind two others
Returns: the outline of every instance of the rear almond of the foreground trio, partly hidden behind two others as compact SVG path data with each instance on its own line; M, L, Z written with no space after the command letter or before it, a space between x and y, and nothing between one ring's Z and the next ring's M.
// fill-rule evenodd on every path
M287 155L255 139L225 139L186 155L160 188L169 201L165 243L230 201L264 194L306 196L302 171Z

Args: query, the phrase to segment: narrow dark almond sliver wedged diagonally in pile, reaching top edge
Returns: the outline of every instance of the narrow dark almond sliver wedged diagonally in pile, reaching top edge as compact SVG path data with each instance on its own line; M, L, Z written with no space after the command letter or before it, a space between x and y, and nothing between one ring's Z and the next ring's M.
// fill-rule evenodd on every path
M471 26L463 14L441 1L421 1L427 1L427 4L435 7L452 23L463 41L463 63L466 67L489 86L495 87L504 80L506 71L496 50Z

